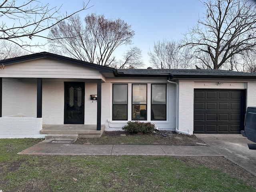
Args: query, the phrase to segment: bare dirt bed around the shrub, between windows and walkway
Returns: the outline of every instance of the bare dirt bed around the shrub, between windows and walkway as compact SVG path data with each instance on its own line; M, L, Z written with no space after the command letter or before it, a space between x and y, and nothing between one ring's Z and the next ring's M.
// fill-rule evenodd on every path
M74 144L148 144L148 145L206 145L194 135L159 131L151 134L129 134L124 131L105 131L101 138L80 138Z

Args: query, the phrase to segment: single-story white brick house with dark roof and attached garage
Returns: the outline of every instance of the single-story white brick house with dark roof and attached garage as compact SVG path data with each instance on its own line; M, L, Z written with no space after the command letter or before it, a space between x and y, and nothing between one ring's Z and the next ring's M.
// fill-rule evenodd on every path
M44 138L54 127L87 137L130 120L184 134L233 134L244 129L246 107L256 106L250 73L116 70L48 52L0 66L0 138Z

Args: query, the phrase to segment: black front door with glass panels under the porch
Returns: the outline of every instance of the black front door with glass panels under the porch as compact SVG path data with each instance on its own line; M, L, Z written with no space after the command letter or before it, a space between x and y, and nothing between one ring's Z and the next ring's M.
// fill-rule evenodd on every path
M64 86L64 124L84 124L84 82Z

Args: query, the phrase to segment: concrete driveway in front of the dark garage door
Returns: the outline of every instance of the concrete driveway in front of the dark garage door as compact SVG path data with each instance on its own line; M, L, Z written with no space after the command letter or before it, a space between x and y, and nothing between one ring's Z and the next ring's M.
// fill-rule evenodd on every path
M250 150L248 143L254 144L241 134L195 134L210 146L210 149L238 164L256 176L256 150Z

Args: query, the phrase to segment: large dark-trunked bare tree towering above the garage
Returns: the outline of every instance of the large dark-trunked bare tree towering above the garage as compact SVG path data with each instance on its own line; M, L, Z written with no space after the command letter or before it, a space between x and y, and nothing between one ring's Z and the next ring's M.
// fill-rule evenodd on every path
M202 68L233 69L238 54L256 46L256 6L251 0L207 0L206 13L186 34L183 45L194 50ZM210 62L208 61L210 57Z

